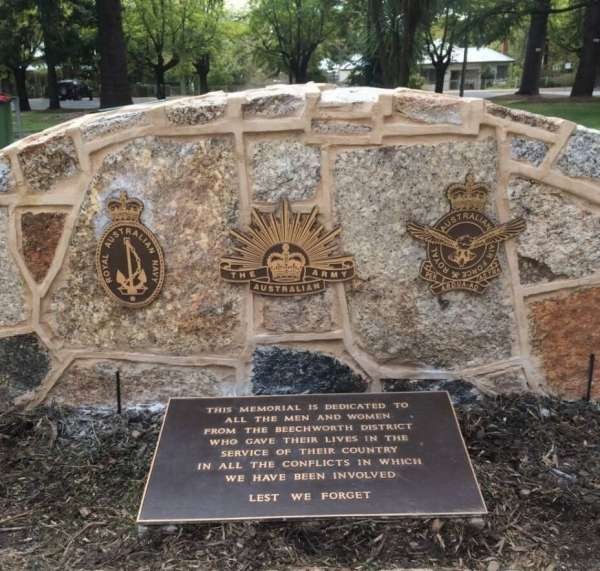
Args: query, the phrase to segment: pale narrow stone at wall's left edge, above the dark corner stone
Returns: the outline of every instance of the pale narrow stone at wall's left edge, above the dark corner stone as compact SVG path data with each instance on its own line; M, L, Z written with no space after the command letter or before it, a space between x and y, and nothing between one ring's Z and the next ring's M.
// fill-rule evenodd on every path
M8 249L8 208L0 207L0 326L15 325L27 317L25 285Z

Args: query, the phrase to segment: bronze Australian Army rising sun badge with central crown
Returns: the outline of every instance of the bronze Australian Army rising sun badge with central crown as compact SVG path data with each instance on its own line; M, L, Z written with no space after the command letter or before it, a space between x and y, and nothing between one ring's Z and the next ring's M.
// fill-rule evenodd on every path
M252 209L248 230L231 230L235 254L221 258L221 278L250 283L260 295L290 296L319 293L325 282L354 277L352 256L337 256L339 228L327 232L317 221L319 209L292 213L287 201L279 214Z

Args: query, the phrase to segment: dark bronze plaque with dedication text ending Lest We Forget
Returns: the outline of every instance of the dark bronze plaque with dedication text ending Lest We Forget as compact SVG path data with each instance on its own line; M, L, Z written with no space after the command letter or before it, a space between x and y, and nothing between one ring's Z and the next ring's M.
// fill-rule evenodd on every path
M485 513L446 392L174 398L138 523Z

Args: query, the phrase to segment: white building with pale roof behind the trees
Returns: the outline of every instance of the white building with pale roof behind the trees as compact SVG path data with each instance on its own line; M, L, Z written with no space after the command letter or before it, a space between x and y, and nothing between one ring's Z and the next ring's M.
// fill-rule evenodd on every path
M455 47L452 50L450 65L444 76L444 91L460 88L464 53L464 48ZM509 67L514 61L513 58L492 48L468 48L465 89L484 89L491 85L506 83L509 78ZM423 89L435 89L435 68L429 54L423 56L419 68L425 78Z

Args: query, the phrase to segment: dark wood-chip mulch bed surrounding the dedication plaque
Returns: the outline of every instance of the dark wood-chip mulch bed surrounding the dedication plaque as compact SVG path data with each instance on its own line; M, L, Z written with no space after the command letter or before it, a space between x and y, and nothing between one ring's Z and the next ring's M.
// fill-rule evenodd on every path
M161 414L0 416L0 569L600 569L600 409L533 397L459 407L481 521L211 524L138 537Z

